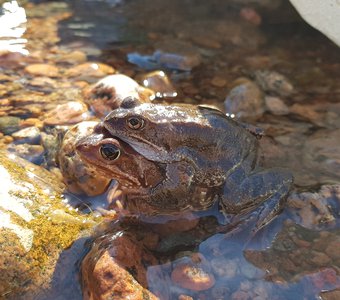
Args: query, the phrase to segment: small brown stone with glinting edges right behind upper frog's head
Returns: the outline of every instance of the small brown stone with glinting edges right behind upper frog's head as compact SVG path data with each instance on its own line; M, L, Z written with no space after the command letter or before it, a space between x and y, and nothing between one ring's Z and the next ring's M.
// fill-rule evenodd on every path
M177 92L170 82L169 77L163 71L154 71L143 75L140 82L155 92L158 98L173 98Z

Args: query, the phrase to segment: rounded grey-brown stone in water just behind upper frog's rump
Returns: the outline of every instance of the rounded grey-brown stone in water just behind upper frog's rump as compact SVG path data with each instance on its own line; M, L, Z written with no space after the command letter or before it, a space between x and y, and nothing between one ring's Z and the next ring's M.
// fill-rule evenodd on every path
M240 120L257 120L264 113L264 98L260 88L251 80L240 78L229 92L224 106L227 114Z

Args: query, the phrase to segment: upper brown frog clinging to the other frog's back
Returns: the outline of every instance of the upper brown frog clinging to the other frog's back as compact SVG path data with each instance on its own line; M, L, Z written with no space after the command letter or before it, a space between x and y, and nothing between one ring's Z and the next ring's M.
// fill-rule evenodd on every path
M163 165L163 179L149 191L159 206L172 199L178 210L197 211L218 201L226 219L250 215L259 230L282 211L293 185L288 170L261 167L254 130L215 108L127 98L102 126Z

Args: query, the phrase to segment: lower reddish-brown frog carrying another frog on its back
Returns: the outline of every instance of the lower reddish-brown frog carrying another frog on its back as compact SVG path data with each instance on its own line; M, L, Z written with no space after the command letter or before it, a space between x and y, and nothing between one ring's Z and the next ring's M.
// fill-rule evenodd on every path
M101 123L91 134L77 141L75 149L98 176L117 181L117 188L123 193L118 200L125 215L145 219L154 215L181 215L183 211L193 210L187 201L189 195L180 189L178 191L184 197L175 192L166 195L166 191L158 197L153 196L153 189L166 178L167 164L146 159L124 141L112 137ZM196 193L196 199L200 199L202 190L198 186L186 192L189 190ZM195 204L194 207L198 208L199 205Z

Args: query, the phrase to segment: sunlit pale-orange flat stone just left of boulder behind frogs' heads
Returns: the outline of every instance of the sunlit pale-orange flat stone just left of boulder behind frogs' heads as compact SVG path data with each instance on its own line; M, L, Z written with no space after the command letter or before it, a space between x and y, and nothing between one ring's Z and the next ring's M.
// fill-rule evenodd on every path
M71 101L57 107L45 114L45 125L66 125L90 119L85 103Z

